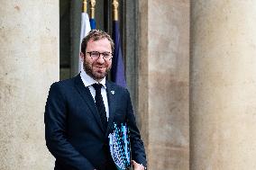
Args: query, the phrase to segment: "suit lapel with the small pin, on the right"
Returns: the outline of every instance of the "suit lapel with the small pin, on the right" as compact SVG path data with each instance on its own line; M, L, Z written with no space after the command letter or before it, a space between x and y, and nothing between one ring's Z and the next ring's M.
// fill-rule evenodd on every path
M115 89L114 89L114 86L108 82L106 82L105 85L106 85L106 94L107 94L107 101L108 101L108 108L109 108L109 118L107 121L107 128L105 130L105 135L107 136L114 120Z

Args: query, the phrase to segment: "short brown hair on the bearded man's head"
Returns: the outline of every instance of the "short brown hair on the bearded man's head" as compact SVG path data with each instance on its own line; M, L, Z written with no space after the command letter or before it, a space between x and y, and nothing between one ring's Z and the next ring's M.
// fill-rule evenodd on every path
M86 53L87 49L87 43L89 40L102 40L102 39L107 39L110 42L112 52L114 52L114 41L111 39L110 35L106 33L105 31L100 31L100 30L91 30L88 32L87 36L82 40L81 43L81 52Z

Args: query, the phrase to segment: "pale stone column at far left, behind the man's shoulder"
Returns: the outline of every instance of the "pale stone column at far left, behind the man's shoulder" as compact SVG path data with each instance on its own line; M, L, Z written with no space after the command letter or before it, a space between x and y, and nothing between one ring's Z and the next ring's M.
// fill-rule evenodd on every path
M53 169L43 113L59 79L59 1L0 4L0 169Z

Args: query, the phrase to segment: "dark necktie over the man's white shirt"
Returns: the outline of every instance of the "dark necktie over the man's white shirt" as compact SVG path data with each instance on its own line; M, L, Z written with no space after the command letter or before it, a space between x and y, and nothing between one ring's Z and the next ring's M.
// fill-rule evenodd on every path
M103 124L104 130L106 130L107 120L106 120L106 113L105 113L105 105L104 105L103 98L102 98L102 95L101 95L102 85L101 84L94 84L93 87L96 90L95 100L96 100L97 112L99 113L100 120Z

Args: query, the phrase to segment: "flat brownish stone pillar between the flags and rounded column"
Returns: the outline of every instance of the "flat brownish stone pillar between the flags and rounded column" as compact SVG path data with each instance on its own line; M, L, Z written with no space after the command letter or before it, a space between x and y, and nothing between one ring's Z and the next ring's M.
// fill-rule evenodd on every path
M187 170L189 1L139 6L138 109L149 169Z

